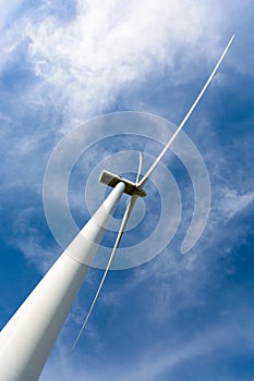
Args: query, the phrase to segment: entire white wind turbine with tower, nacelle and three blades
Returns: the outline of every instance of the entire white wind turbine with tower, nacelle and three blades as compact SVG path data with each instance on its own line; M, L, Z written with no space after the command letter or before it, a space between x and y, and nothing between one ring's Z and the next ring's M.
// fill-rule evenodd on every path
M105 229L110 220L111 213L118 205L122 194L126 193L131 198L126 206L105 274L82 330L74 343L75 346L98 298L135 200L137 197L144 197L146 195L144 185L195 109L227 53L233 37L234 36L231 37L225 48L219 61L190 111L186 113L185 118L144 177L140 180L142 169L141 155L135 183L110 172L102 172L100 181L113 187L112 192L0 333L1 381L35 381L39 378L44 365L88 270L88 266L84 265L84 262L92 262L102 238ZM61 221L59 221L59 223L61 223Z

